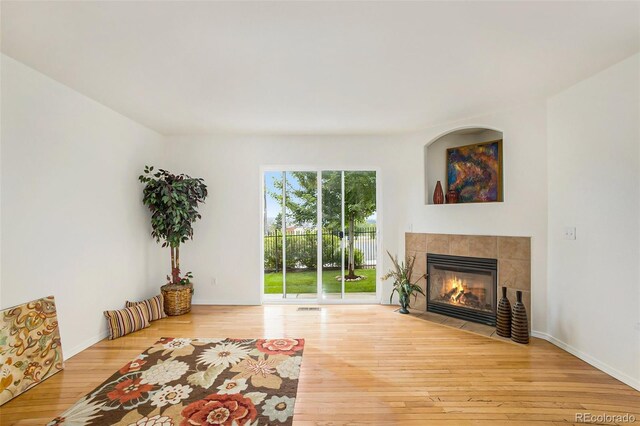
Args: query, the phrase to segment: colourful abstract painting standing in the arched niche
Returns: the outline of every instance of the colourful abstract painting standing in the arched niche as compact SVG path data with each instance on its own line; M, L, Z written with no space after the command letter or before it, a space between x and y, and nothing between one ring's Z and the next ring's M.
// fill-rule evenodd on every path
M502 201L502 141L447 149L447 183L459 203Z

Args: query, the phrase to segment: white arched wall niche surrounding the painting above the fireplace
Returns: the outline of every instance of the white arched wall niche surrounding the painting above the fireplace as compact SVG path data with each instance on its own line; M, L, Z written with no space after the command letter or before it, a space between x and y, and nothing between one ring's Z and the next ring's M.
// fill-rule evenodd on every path
M503 140L503 132L499 129L467 126L449 130L429 141L424 146L425 204L433 204L433 192L437 181L440 181L442 189L447 191L447 149L496 140Z

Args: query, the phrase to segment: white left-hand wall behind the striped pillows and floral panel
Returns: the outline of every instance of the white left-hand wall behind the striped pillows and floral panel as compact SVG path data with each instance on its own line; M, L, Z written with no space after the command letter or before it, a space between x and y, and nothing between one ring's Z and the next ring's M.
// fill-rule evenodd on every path
M137 176L162 138L4 55L1 72L0 307L54 295L69 357L103 310L158 293Z

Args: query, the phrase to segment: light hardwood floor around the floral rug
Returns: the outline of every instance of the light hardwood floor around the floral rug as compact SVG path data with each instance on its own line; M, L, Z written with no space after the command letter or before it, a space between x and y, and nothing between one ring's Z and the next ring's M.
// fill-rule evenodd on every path
M270 305L195 306L99 342L1 407L1 423L46 423L164 336L305 338L296 425L566 425L578 412L640 422L640 392L542 340L503 342L392 306Z

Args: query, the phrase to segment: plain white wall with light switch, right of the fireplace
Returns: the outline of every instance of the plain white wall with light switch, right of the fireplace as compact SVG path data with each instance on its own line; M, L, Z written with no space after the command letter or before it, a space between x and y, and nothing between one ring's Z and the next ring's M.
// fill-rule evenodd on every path
M549 335L640 389L640 55L549 99ZM575 241L563 239L566 226Z

